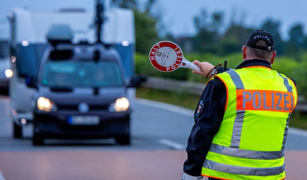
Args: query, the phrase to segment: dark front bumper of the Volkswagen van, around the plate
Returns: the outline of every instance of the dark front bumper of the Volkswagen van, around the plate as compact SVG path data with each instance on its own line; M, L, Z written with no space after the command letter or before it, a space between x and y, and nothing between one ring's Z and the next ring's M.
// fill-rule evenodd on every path
M71 115L99 116L97 125L72 125ZM101 139L119 135L129 135L130 112L35 112L34 133L47 139Z

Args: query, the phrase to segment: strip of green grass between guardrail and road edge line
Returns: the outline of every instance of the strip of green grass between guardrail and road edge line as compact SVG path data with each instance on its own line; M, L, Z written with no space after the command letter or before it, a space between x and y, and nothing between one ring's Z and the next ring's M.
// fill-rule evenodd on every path
M196 96L184 91L170 92L170 91L149 89L144 87L137 89L137 97L165 102L168 104L174 104L177 106L181 106L183 108L191 109L193 111L196 109L196 106L200 98L200 96ZM290 118L289 126L307 130L306 114L296 112L294 110Z

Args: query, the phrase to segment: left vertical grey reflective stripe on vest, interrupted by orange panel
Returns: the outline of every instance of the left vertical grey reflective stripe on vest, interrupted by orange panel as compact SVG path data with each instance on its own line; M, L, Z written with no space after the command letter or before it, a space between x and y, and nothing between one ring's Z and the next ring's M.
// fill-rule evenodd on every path
M235 70L231 69L227 71L227 73L230 75L230 78L235 84L236 89L244 89L242 80L239 74L235 72ZM231 144L230 144L231 147L239 148L244 115L245 115L244 110L237 110L235 116L235 122L232 129Z

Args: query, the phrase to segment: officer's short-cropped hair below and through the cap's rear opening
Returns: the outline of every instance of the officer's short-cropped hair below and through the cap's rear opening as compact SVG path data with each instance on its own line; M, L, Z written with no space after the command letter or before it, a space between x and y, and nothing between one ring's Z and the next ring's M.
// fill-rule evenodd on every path
M258 46L267 46L267 42L259 39L258 41L256 41L256 45ZM258 59L263 59L266 61L271 61L271 57L273 54L273 51L267 51L267 50L262 50L262 49L256 49L256 48L251 48L249 46L247 46L247 53L251 56L251 57L255 57Z

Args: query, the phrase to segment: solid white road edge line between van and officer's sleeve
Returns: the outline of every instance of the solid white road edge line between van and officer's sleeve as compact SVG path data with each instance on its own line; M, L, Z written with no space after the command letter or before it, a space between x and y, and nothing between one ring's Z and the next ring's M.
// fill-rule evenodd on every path
M166 109L172 112L190 116L191 118L194 119L194 111L186 109L186 108L182 108L180 106L175 106L172 104L157 102L153 100L139 99L139 98L136 99L136 103L146 105L146 106L152 106L155 108Z

